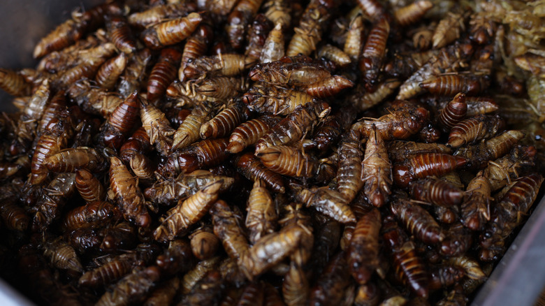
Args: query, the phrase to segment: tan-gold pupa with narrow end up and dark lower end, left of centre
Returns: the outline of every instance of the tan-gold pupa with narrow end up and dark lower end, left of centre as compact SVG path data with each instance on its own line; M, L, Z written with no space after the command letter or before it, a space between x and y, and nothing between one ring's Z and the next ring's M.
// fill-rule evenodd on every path
M110 189L126 221L140 227L150 226L151 217L146 210L138 181L115 156L110 157Z

